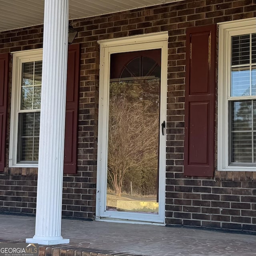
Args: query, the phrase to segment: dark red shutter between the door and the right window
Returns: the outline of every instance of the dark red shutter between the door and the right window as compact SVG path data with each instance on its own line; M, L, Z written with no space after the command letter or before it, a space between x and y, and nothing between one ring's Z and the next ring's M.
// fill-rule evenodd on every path
M213 176L216 26L186 31L184 175Z

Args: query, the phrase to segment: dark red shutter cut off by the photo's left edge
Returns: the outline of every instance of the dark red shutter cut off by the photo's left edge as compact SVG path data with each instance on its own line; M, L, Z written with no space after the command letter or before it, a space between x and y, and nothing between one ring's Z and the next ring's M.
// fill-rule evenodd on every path
M5 167L9 54L0 54L0 172Z

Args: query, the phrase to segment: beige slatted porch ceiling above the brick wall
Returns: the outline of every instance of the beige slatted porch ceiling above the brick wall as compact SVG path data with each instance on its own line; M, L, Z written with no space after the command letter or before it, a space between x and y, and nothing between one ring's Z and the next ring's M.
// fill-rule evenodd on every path
M183 0L70 0L69 19ZM42 24L44 0L0 0L0 31Z

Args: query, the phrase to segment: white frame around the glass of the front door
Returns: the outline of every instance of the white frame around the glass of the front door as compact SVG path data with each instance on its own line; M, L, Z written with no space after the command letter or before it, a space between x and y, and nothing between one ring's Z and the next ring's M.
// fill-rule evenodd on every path
M130 220L139 222L164 223L165 217L165 180L166 180L166 129L164 136L161 124L166 122L167 114L167 66L168 32L130 36L127 38L98 41L100 44L100 88L98 114L98 153L96 185L96 219ZM159 208L158 214L136 212L114 212L106 207L106 180L108 154L108 104L110 82L110 54L141 50L161 49L161 86L160 86L160 122L159 122Z

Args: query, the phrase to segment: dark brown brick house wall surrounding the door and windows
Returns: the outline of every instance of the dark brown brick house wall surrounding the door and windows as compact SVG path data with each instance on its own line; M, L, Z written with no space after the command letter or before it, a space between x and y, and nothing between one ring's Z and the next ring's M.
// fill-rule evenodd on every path
M74 43L81 44L78 173L64 176L64 216L95 214L97 40L168 31L166 224L256 231L255 172L183 176L186 28L252 17L256 0L186 0L72 22L79 31ZM0 53L41 47L41 26L0 32ZM0 176L0 211L34 213L36 171L6 168Z

